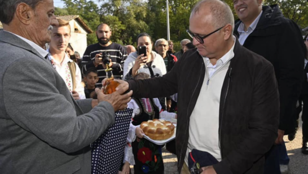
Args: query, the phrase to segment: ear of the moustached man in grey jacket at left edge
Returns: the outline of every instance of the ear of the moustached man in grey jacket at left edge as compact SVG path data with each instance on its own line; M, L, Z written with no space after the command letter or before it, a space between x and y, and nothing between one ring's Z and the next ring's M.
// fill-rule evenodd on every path
M24 25L30 25L31 19L35 16L34 10L25 3L20 3L16 7L15 15Z

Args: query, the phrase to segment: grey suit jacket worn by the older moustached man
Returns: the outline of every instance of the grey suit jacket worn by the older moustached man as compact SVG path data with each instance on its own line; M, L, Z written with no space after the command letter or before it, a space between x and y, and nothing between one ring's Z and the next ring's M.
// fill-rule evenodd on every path
M89 145L115 121L109 103L91 102L74 101L49 61L0 31L0 173L91 173Z

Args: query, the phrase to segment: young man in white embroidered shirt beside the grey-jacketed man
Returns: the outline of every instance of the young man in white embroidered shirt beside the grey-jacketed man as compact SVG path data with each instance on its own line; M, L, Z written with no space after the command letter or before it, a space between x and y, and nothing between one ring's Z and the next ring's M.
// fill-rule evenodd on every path
M81 70L65 53L70 39L70 26L67 21L57 19L59 26L52 29L50 47L47 50L52 66L61 75L75 100L86 99L82 85Z

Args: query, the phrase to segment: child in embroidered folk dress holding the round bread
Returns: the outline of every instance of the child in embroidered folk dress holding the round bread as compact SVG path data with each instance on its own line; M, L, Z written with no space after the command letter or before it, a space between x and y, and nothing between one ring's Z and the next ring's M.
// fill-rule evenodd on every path
M147 73L138 73L135 79L149 78ZM160 112L162 106L157 98L135 99L128 103L128 108L134 109L133 119L128 133L128 143L125 147L124 161L134 164L134 173L164 173L164 162L162 157L162 146L154 144L143 138L143 131L138 127L142 122L160 119L177 118L176 113L167 111ZM136 136L137 137L136 137ZM130 149L129 149L130 148ZM133 156L133 157L132 157ZM128 159L128 160L125 160ZM133 161L132 161L133 159ZM129 167L129 165L128 165ZM124 168L123 168L124 169ZM126 169L124 169L126 170ZM123 170L122 170L123 171Z

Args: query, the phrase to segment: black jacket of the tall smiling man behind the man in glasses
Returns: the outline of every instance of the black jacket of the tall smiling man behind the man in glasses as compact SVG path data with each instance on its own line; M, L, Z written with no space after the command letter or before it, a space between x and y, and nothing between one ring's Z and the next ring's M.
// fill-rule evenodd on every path
M264 6L256 29L248 36L244 47L263 56L275 69L280 97L279 129L294 132L292 118L303 80L304 44L300 29L284 18L277 5ZM239 36L239 21L235 34Z

